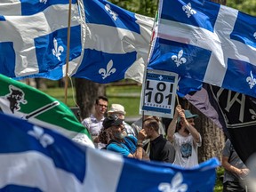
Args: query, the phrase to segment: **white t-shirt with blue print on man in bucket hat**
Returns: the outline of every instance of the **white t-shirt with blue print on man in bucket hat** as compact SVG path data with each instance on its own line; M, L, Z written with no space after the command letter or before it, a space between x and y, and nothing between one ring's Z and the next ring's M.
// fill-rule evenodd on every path
M173 146L175 148L175 160L173 164L179 164L182 167L192 167L198 164L197 148L202 145L202 139L196 143L191 134L183 137L179 132L173 135Z

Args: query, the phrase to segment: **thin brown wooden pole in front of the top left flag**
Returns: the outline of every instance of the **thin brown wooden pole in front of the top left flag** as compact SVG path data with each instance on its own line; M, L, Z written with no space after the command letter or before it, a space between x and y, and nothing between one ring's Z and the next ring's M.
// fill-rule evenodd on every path
M68 5L68 40L67 40L67 57L66 57L66 73L65 73L65 101L67 105L67 95L68 95L68 63L69 63L69 47L70 47L70 26L71 26L71 4L72 0L69 0Z

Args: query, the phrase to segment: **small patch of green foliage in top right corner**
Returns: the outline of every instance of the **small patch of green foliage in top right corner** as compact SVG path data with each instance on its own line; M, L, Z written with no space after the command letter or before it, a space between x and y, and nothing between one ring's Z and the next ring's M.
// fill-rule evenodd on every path
M233 7L236 10L245 12L252 16L256 16L256 1L255 0L228 0L227 6Z

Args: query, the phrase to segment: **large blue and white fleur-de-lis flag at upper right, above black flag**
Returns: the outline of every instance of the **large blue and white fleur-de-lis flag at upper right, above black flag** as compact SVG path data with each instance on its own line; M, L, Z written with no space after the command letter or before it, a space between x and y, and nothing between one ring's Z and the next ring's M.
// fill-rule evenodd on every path
M256 18L211 1L161 0L148 68L256 96Z

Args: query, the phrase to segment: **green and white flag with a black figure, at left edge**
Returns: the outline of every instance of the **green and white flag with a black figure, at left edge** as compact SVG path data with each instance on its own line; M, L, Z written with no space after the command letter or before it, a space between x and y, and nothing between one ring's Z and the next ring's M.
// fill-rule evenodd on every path
M0 75L0 110L94 148L90 133L64 103L3 75Z

